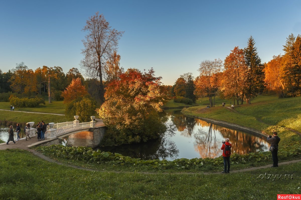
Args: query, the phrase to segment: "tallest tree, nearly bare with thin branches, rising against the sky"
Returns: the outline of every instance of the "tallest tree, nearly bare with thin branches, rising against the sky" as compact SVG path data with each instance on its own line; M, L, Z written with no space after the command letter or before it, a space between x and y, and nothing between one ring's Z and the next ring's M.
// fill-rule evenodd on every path
M85 58L81 61L81 66L85 69L86 75L91 78L99 77L99 93L101 102L104 102L104 85L102 78L104 76L106 61L117 50L118 40L124 31L117 31L109 26L109 22L98 12L91 16L83 31L87 31L85 39L82 40L84 49L82 54Z

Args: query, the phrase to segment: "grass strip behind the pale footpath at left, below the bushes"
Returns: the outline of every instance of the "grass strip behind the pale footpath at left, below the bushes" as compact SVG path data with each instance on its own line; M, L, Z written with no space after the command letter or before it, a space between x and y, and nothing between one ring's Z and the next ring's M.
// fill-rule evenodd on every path
M0 109L10 110L11 104L9 102L0 102ZM40 104L37 108L17 108L17 111L26 111L26 112L44 112L44 113L54 113L54 114L65 114L65 105L63 101L53 101L48 103L46 101L45 105Z

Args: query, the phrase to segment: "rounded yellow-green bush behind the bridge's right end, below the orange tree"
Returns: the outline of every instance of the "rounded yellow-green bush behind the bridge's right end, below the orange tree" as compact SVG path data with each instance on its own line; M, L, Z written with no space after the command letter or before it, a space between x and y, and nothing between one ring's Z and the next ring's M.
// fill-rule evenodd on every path
M79 116L79 121L90 121L90 116L96 114L95 101L88 97L77 98L66 104L65 113L69 119L72 119L74 115Z

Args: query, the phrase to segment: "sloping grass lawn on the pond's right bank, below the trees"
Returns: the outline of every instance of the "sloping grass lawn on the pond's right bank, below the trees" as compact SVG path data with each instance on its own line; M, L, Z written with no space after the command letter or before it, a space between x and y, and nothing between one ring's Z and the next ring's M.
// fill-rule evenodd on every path
M227 100L224 101L228 106ZM184 114L226 121L257 130L279 125L301 132L301 97L278 99L274 95L259 95L251 100L251 104L235 105L235 111L237 112L222 107L222 103L210 109L195 106L182 110Z

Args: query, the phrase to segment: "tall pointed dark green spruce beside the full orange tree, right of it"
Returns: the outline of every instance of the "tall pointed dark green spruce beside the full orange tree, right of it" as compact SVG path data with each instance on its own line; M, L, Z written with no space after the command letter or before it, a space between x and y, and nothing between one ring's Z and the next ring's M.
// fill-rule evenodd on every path
M251 97L255 97L256 93L262 92L264 89L264 66L261 64L261 59L255 47L255 41L251 36L248 40L248 45L244 49L245 61L248 67L247 72L247 87L245 95L248 103L251 103Z

